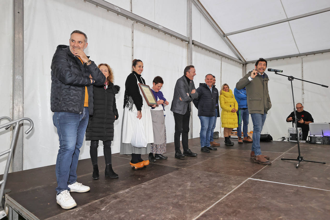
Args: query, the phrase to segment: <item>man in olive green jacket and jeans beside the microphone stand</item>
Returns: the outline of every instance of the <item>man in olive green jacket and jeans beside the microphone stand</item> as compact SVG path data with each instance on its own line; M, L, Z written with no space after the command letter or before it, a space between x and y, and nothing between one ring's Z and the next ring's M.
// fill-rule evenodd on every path
M260 134L264 126L267 112L272 107L268 94L269 78L264 72L267 68L267 61L259 58L255 63L254 70L248 72L236 83L237 89L247 90L248 111L253 122L252 149L250 157L259 164L270 165L269 157L261 154Z

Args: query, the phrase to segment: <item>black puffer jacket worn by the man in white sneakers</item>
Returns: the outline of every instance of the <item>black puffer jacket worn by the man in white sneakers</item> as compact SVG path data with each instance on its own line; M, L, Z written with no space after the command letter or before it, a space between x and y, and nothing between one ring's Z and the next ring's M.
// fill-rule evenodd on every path
M85 86L88 91L89 114L93 114L93 86L102 85L106 78L92 61L88 66L73 55L69 46L59 45L51 61L50 110L81 113L85 100Z

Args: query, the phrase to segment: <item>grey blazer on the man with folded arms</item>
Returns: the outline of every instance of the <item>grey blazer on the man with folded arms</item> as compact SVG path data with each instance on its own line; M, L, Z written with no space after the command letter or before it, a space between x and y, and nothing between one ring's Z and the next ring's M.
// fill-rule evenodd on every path
M188 85L188 82L184 75L181 78L179 78L174 87L171 111L179 114L185 114L188 105L189 105L189 111L191 111L190 102L193 99L198 98L197 91L191 94L191 90L193 89L195 89L195 84L193 80L190 80L190 83ZM187 93L189 94L189 96L187 96ZM180 101L179 97L181 97L182 101Z

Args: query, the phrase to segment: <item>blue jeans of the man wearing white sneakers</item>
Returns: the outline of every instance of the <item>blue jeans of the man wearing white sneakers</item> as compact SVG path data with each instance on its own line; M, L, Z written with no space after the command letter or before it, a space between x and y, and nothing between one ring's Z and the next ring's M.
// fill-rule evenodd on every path
M57 193L70 190L68 185L77 182L78 158L88 119L88 107L83 108L82 114L54 112L53 124L57 128L60 142L55 167Z

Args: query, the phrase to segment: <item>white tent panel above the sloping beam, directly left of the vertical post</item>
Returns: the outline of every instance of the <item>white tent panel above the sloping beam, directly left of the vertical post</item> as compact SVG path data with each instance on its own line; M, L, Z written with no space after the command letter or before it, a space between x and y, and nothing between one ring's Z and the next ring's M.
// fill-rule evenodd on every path
M186 0L132 0L132 13L187 36Z

